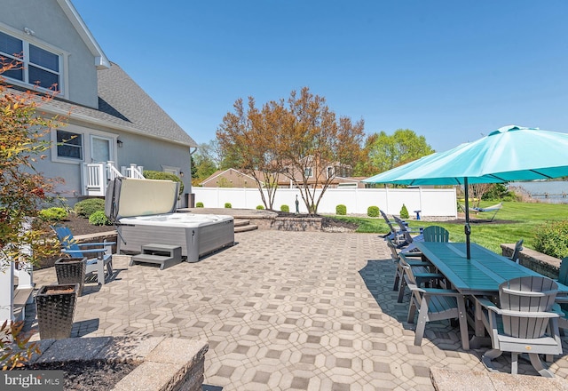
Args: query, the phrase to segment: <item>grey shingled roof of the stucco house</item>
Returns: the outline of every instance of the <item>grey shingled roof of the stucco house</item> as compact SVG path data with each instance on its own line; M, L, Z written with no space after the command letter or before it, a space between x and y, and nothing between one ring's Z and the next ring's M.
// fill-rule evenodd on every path
M99 109L56 97L42 110L124 132L197 147L197 143L114 62L110 63L110 68L97 71L97 76Z

